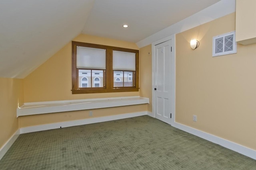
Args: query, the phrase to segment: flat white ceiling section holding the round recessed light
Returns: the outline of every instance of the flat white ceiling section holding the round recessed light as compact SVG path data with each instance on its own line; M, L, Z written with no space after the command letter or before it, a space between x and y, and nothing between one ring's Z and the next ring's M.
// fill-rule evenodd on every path
M95 0L82 33L137 43L218 1Z

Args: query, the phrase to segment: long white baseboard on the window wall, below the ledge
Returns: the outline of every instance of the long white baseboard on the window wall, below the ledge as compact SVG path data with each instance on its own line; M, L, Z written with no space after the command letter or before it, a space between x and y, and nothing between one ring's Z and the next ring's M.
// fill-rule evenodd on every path
M80 119L74 121L64 121L58 123L50 123L44 125L37 125L37 126L29 126L29 127L22 127L20 128L20 134L23 133L30 133L30 132L37 132L37 131L45 131L50 129L58 129L60 127L71 127L71 126L78 126L78 125L86 125L91 123L99 123L104 121L112 121L118 119L126 119L130 117L137 117L147 115L147 111L135 112L135 113L125 113L120 115L111 115L111 116L104 116L104 117L94 117L89 119Z

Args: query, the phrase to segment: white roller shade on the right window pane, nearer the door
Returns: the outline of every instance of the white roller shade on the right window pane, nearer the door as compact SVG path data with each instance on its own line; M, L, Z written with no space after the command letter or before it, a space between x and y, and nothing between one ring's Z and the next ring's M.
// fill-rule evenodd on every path
M113 51L113 70L135 71L136 54L123 51Z

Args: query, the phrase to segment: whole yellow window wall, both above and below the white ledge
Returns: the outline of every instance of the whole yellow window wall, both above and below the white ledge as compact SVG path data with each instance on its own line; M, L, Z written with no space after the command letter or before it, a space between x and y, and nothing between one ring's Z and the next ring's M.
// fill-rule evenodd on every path
M91 35L79 35L73 41L138 49L135 43L118 41ZM76 100L89 98L109 98L120 96L140 96L140 92L116 92L99 94L72 94L72 46L71 42L53 55L48 61L24 78L24 102L42 102L55 100ZM143 72L143 70L142 70ZM117 115L147 111L148 104L136 106L94 109L92 117ZM70 111L62 113L48 113L20 117L20 127L72 121L89 117L89 111Z

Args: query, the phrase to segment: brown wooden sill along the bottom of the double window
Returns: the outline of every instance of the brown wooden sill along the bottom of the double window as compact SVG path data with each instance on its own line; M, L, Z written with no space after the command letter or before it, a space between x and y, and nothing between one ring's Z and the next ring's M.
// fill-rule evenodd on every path
M138 91L139 91L139 88L80 89L80 90L72 90L72 94L138 92Z

